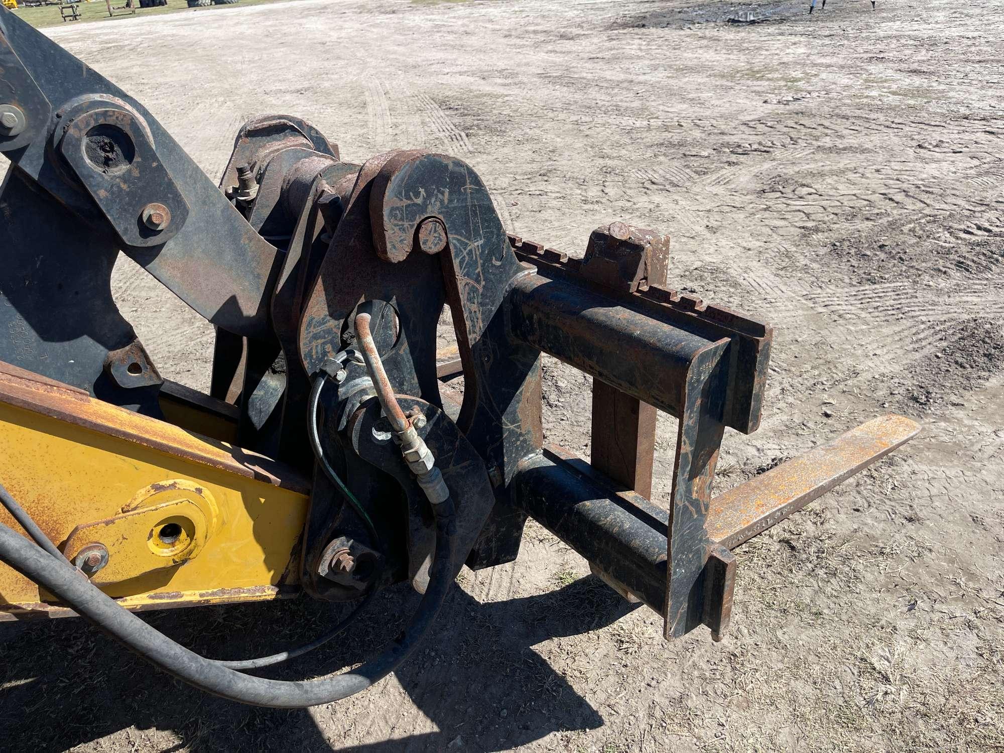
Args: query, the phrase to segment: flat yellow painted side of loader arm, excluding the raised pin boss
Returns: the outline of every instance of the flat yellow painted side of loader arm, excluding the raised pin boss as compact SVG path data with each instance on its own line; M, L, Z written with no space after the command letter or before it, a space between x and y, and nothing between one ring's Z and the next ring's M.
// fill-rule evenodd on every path
M5 401L0 402L0 481L57 546L76 526L129 509L128 503L152 484L191 481L219 507L217 529L195 557L102 585L102 590L141 608L272 598L296 590L307 505L301 481L283 483L274 475L277 465L267 459L81 398L67 388L61 388L65 393L46 390L43 412L23 407L40 390L23 380L0 379L0 401ZM67 419L67 411L85 418ZM140 444L120 429L108 433L104 420L128 424L138 433L146 427L158 440ZM91 426L81 425L87 422ZM266 464L269 472L261 470ZM2 508L0 520L22 532ZM145 537L137 538L137 547L148 547ZM115 547L131 543L118 541ZM51 594L39 593L34 583L0 564L0 611L45 609L52 603Z

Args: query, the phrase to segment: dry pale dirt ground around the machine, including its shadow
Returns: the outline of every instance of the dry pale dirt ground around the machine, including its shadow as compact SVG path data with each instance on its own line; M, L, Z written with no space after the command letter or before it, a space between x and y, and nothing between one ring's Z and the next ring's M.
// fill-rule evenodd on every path
M996 0L305 0L51 30L214 178L239 124L301 115L362 161L450 152L512 232L580 254L673 236L671 286L775 327L763 427L724 487L886 412L923 436L738 550L731 634L661 622L531 525L461 575L400 673L309 711L151 671L79 620L0 625L4 747L93 751L1004 751L1004 34ZM732 20L730 20L732 19ZM211 331L123 262L161 370L209 381ZM588 454L589 381L545 370L547 439ZM656 501L674 426L661 418ZM275 673L322 674L415 599ZM220 658L315 635L295 600L151 616Z

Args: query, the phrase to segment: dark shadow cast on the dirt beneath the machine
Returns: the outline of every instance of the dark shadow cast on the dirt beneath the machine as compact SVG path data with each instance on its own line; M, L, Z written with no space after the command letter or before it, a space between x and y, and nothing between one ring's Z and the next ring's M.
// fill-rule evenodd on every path
M410 614L417 600L404 585L388 589L343 639L263 675L302 679L364 661L400 632L402 615ZM10 749L36 751L64 751L114 733L124 735L120 742L133 741L134 726L163 751L440 751L451 743L458 750L502 750L554 731L602 725L599 714L532 647L597 630L634 608L592 576L548 593L487 603L454 588L435 635L396 673L439 729L418 734L410 734L414 723L411 729L398 723L402 709L388 704L385 694L396 691L387 683L311 712L253 708L150 669L81 619L4 623L0 728ZM309 640L345 611L343 604L299 598L168 610L147 618L205 656L237 659ZM362 746L342 741L342 719L349 715L355 729L366 726L359 736L397 739ZM158 730L164 731L160 745Z

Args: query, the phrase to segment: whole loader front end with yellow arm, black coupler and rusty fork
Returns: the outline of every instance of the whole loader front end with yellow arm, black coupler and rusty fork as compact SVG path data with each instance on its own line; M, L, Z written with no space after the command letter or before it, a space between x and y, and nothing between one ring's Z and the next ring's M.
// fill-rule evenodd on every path
M772 330L665 287L668 237L604 225L569 259L507 235L462 161L353 165L288 115L246 123L214 186L142 104L7 11L0 83L0 480L58 547L45 556L120 605L354 599L404 579L441 603L463 563L514 559L532 516L666 638L720 640L732 550L918 431L875 419L714 496L725 429L760 425ZM165 380L119 313L119 251L215 325L210 395ZM542 353L593 378L591 462L543 445ZM462 393L443 386L461 373ZM678 425L668 509L650 501L657 411ZM112 630L117 607L83 610L89 585L16 544L0 547L6 612L69 605Z

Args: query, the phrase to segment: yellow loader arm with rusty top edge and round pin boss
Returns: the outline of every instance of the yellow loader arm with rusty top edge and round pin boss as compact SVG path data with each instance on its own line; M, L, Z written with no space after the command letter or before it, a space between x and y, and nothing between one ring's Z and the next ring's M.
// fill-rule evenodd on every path
M207 422L211 425L211 422ZM298 591L309 482L231 444L0 364L0 479L70 561L130 608ZM0 509L0 521L20 530ZM0 618L71 613L0 564Z

